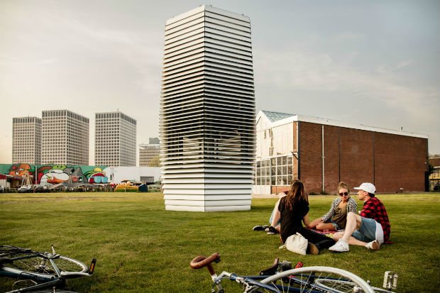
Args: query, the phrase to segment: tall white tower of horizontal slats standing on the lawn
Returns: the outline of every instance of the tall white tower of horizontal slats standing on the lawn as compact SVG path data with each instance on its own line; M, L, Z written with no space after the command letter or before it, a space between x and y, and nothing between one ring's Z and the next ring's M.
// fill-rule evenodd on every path
M166 22L160 106L165 208L251 209L255 98L247 16L205 5Z

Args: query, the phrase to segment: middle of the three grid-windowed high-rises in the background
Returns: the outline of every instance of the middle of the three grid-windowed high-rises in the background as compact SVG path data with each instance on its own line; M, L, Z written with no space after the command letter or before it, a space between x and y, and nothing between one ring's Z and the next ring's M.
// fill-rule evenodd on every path
M89 118L69 110L43 111L43 164L89 165Z

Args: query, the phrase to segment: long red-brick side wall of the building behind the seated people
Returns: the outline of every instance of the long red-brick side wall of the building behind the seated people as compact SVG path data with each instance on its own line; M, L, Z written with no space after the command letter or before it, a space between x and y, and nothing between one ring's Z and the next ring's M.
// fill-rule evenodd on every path
M299 123L299 177L308 192L322 192L322 125ZM427 139L324 126L324 190L372 182L378 192L424 191ZM353 192L353 190L352 190Z

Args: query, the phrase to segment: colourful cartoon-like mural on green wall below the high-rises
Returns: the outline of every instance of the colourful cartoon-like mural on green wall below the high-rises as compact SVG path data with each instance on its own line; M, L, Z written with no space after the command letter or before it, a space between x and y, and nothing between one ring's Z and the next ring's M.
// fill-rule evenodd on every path
M4 171L6 168L9 170ZM109 183L109 177L106 177L105 166L67 166L67 165L29 165L13 164L0 165L0 174L11 175L14 179L21 179L26 171L29 175L37 174L37 184L58 184L61 182L70 183Z

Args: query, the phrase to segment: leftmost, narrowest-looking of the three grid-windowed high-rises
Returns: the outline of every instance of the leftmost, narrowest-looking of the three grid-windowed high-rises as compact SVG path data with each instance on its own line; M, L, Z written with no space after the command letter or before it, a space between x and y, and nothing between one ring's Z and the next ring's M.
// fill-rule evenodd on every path
M12 118L12 163L41 164L41 118Z

